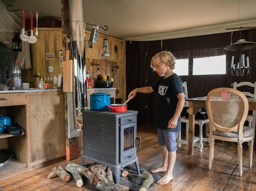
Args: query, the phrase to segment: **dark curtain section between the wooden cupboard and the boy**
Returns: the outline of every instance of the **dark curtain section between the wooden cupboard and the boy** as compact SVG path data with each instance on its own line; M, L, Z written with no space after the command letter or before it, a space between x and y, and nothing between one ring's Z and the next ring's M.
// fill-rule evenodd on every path
M150 86L158 75L150 68L151 57L161 51L161 41L126 42L127 96L136 87ZM138 93L129 101L128 109L139 112L138 121L154 123L156 94Z

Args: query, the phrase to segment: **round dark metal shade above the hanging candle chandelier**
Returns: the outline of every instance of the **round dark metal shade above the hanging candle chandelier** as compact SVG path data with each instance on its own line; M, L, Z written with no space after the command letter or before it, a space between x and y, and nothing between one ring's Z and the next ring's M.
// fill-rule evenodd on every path
M225 50L230 51L240 51L240 50L248 50L256 47L256 42L246 41L245 39L239 39L237 42L226 46Z

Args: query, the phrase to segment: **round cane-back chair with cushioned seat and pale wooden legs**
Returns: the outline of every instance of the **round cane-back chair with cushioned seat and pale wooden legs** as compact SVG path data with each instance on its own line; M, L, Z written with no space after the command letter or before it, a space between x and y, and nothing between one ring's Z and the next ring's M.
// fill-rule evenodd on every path
M238 168L243 174L243 146L249 145L249 164L252 167L254 129L244 126L248 114L248 100L244 93L227 87L211 90L206 98L206 110L210 120L209 169L212 167L215 139L237 142Z

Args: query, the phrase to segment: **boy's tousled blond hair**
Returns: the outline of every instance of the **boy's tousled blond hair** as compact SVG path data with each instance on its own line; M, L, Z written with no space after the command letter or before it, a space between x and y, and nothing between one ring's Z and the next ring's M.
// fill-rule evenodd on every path
M175 60L174 55L169 51L162 51L157 53L155 56L151 58L150 67L155 71L156 64L165 64L169 63L169 67L171 70L175 69Z

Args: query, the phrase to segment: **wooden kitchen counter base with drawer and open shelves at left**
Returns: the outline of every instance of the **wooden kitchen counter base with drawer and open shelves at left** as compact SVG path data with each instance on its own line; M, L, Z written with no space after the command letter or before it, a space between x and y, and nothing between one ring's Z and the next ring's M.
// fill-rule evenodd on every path
M26 129L23 136L2 137L0 147L13 150L14 157L27 166L66 155L63 92L28 91L0 96L20 100L19 104L8 106L0 103L0 107Z

